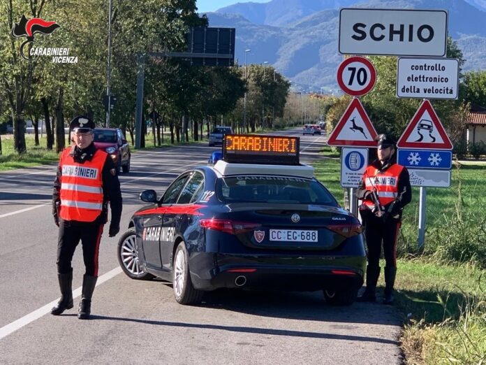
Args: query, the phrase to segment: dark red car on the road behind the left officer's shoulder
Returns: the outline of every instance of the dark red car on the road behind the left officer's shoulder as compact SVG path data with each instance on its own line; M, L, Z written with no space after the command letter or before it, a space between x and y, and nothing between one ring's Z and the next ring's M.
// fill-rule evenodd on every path
M94 146L97 150L103 150L112 158L117 173L120 169L124 173L130 171L131 150L130 143L119 128L95 128Z

